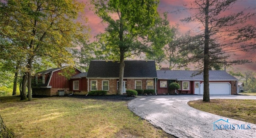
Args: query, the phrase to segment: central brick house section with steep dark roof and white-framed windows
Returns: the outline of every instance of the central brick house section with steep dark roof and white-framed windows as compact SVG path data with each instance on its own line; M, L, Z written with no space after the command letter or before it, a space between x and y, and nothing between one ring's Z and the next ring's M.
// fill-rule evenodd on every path
M127 89L154 89L156 91L156 64L153 60L125 60L122 93ZM92 60L87 80L88 91L106 90L116 94L119 83L118 61Z

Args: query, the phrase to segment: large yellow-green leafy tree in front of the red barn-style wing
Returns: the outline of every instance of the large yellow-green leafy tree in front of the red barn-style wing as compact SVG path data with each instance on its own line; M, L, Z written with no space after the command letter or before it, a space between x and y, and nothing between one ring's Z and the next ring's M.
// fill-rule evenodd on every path
M87 27L75 21L84 5L76 0L7 0L1 2L1 9L0 36L11 43L5 49L16 50L14 55L26 58L21 100L26 98L26 86L28 100L32 100L35 58L47 58L58 66L63 63L72 66L71 49L82 38L88 39Z

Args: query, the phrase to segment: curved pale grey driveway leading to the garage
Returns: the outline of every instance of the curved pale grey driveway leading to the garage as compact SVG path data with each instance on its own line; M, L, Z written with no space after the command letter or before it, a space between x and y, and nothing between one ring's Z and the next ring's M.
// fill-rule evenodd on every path
M196 110L187 104L188 101L202 98L202 95L138 96L128 103L128 107L141 118L178 138L256 138L256 124ZM256 100L256 96L240 95L210 96L210 98ZM220 119L225 121L228 119L228 123ZM216 122L217 120L220 121ZM234 124L235 129L214 130L214 122L220 126ZM248 124L250 129L245 130ZM244 127L241 127L243 125Z

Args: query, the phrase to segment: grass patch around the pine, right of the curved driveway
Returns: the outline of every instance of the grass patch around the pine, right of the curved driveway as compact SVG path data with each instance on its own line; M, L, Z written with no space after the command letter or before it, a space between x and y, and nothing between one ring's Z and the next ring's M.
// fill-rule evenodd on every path
M202 100L188 102L193 108L256 124L256 100L238 99L211 99L210 102Z

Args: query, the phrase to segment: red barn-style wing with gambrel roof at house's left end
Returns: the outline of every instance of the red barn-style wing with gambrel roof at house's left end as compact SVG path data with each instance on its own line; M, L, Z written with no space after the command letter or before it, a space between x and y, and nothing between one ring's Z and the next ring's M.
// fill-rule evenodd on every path
M70 94L68 79L61 75L65 68L67 68L67 66L36 73L32 78L32 95L55 96L59 95L59 92ZM81 73L77 68L74 69L74 75Z

